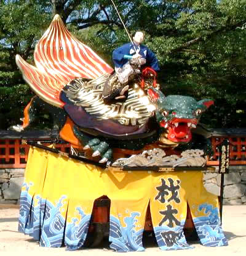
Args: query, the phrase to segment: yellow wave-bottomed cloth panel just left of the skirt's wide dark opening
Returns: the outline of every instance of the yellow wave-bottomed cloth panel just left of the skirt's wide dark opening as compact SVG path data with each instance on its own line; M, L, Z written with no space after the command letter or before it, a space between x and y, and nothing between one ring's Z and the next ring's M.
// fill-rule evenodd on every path
M66 215L65 246L77 250L87 237L94 200L105 193L100 178L101 170L93 165L68 160L66 167L69 184L69 205Z

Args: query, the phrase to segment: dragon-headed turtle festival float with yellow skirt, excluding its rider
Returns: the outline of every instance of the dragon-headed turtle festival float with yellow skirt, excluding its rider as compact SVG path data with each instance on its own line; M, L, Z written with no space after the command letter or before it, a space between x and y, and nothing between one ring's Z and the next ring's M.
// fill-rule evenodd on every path
M46 109L71 144L66 154L28 141L19 231L41 246L76 250L101 224L117 252L145 250L143 231L153 231L161 250L190 249L189 217L202 245L227 245L218 197L202 183L202 171L213 171L205 160L208 140L196 133L211 99L164 96L146 67L124 99L105 101L113 68L71 35L59 15L36 44L36 67L20 56L16 62L36 96L15 129Z

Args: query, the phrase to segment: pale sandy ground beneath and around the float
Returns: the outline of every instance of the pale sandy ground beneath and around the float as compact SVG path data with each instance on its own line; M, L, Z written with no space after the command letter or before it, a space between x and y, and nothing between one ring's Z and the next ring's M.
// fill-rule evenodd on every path
M31 237L18 233L18 205L0 205L0 255L120 255L109 249L108 241L95 249L82 249L74 252L66 252L62 248L39 247L39 243ZM154 256L154 255L246 255L246 205L225 205L223 207L223 231L229 246L204 247L199 242L189 242L194 249L178 251L162 251L157 247L151 237L144 242L145 252L127 252L126 256Z

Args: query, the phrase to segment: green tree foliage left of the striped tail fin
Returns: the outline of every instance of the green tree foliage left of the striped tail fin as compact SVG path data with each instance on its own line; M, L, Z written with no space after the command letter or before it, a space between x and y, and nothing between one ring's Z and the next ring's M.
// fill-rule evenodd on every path
M34 44L51 18L44 2L0 1L0 129L19 123L30 101L32 94L17 69L15 55L32 62Z

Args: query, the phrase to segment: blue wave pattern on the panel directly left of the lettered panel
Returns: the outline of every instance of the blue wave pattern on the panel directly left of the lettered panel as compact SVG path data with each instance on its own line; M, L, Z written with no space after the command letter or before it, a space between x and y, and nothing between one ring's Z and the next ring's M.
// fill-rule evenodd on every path
M109 242L111 249L116 252L141 252L145 248L142 244L143 228L135 231L136 217L140 217L139 212L130 213L130 217L124 218L125 227L122 227L119 218L110 215Z

